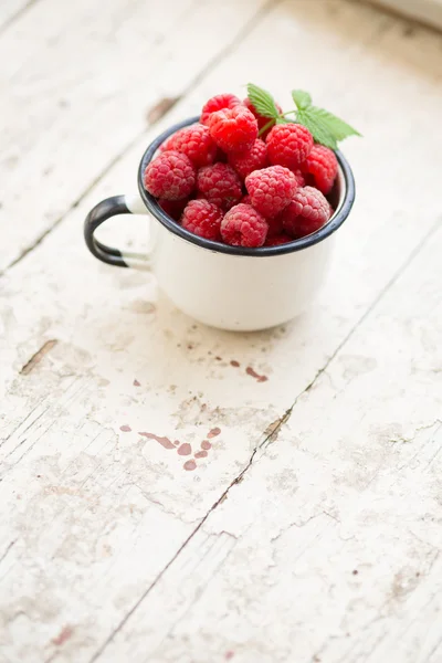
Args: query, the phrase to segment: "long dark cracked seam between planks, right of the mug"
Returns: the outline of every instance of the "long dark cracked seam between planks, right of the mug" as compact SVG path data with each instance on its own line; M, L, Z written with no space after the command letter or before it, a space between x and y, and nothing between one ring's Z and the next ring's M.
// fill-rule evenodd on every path
M292 406L284 412L284 414L280 419L277 419L273 424L271 424L270 427L267 427L266 431L264 431L264 440L262 440L259 444L255 445L255 448L253 449L253 451L251 453L251 456L250 456L248 463L245 464L245 466L231 481L231 483L229 484L229 486L222 492L222 494L220 495L220 497L213 503L213 505L209 508L209 511L206 513L206 515L201 518L201 520L197 525L197 527L190 533L190 535L186 538L186 540L182 543L182 545L178 548L177 552L169 559L169 561L161 569L161 571L156 576L156 578L154 579L154 581L143 592L143 594L139 597L139 599L136 601L136 603L130 608L130 610L119 621L119 623L112 631L112 633L108 635L108 638L106 638L106 640L104 641L104 643L99 646L99 649L95 652L95 654L90 659L90 663L95 663L96 661L99 660L101 655L104 653L104 651L106 650L106 648L113 642L113 640L115 639L115 636L124 629L124 627L126 625L126 623L129 621L129 619L133 617L133 614L137 611L137 609L141 606L141 603L144 602L144 600L148 597L148 594L152 591L152 589L155 589L155 587L162 579L162 577L167 573L168 569L178 559L178 557L181 555L181 552L185 550L185 548L188 546L188 544L192 540L192 538L199 533L199 530L204 525L204 523L208 520L208 518L210 517L210 515L220 506L220 504L222 504L227 499L227 497L229 496L229 492L231 491L231 488L233 488L233 486L235 486L236 484L240 484L243 481L245 474L248 473L248 471L250 470L250 467L254 463L255 456L259 453L259 451L261 449L263 449L264 450L263 451L263 455L264 455L265 454L265 449L270 444L272 444L273 442L276 441L277 435L278 435L282 427L290 420L290 418L291 418L291 415L293 413L293 410L296 407L296 404L299 401L299 399L305 393L307 393L315 386L315 383L317 382L317 380L328 369L328 367L335 360L335 358L340 352L340 350L346 346L346 344L349 341L349 339L354 336L354 334L359 329L359 327L365 323L365 320L370 316L370 314L373 311L376 311L377 306L381 303L381 301L383 299L383 297L386 296L386 294L388 293L388 291L396 284L396 282L401 277L401 275L403 273L406 273L408 269L411 267L411 265L414 262L414 260L421 253L421 251L423 250L423 248L425 246L425 244L430 241L430 239L438 232L438 230L440 230L440 220L439 219L433 224L433 227L430 229L430 231L422 238L422 240L419 242L419 244L417 244L417 246L411 251L411 253L401 263L401 265L399 266L399 269L394 272L394 274L387 282L387 284L380 290L380 292L377 294L377 296L372 299L371 304L367 307L367 309L364 312L364 314L359 317L359 319L356 322L356 324L348 332L348 334L346 335L346 337L338 344L338 346L335 349L335 351L325 361L324 366L316 372L316 376L313 378L313 380L305 387L305 389L303 389L296 396L296 398L294 399Z

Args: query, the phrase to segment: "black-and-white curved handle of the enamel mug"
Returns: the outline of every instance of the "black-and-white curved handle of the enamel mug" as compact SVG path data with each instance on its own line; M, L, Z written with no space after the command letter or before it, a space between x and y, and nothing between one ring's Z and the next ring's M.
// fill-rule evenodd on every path
M106 246L94 236L96 229L102 223L117 214L147 214L147 209L139 196L112 196L102 200L90 211L84 221L84 239L87 249L95 257L108 265L150 270L148 254L123 252Z

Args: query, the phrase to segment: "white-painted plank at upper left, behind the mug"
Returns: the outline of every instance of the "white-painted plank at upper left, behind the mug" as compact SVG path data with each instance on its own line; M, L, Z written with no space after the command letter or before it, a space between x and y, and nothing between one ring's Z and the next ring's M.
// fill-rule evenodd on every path
M0 38L4 270L235 40L264 0L44 0ZM232 22L232 17L234 21ZM208 24L217 31L208 32ZM199 34L199 49L189 48ZM203 52L203 56L201 53Z

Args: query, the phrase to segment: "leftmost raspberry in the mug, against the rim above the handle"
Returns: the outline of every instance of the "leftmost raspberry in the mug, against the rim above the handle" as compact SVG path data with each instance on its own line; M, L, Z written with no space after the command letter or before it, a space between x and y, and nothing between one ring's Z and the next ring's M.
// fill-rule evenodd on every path
M161 152L146 167L143 182L156 198L179 200L192 192L196 170L186 155L177 151Z

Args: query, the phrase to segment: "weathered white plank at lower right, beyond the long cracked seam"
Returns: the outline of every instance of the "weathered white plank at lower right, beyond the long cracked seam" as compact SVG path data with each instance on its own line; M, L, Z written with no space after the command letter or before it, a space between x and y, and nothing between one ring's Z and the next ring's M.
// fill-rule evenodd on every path
M98 660L441 660L441 251L442 229Z

